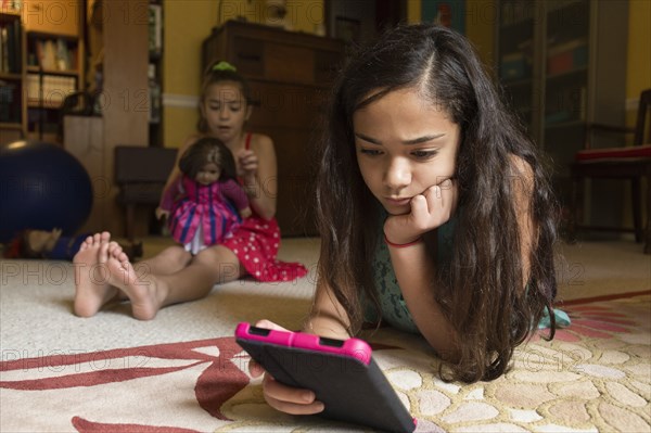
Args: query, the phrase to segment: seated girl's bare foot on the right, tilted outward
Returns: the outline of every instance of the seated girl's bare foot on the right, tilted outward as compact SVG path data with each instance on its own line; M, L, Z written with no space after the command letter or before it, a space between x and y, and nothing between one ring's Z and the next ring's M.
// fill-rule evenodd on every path
M122 290L131 301L131 314L140 320L151 320L161 309L165 284L143 265L138 272L129 257L115 242L108 245L108 282Z

